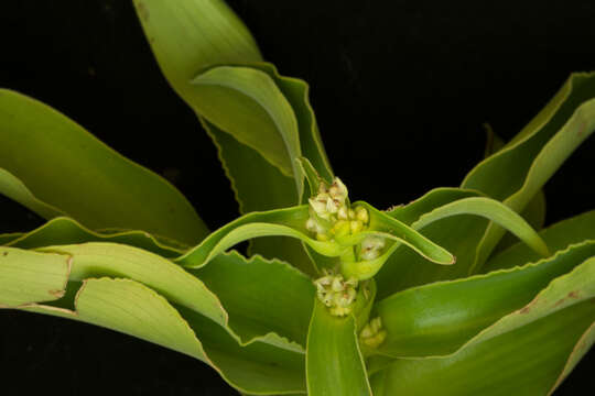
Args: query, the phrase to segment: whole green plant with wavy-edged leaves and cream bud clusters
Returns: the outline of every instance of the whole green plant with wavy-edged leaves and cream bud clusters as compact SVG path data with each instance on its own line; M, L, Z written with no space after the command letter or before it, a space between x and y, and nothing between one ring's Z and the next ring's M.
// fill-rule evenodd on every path
M159 176L1 90L0 191L47 219L0 235L2 307L180 351L251 395L545 395L589 349L595 212L534 229L542 186L595 129L595 74L461 187L381 211L350 200L307 86L224 2L134 6L245 215L207 230ZM229 250L248 240L248 257Z

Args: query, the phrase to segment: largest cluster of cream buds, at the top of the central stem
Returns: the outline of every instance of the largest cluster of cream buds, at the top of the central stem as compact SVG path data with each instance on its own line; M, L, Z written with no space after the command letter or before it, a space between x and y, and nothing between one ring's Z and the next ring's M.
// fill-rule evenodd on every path
M310 218L306 229L316 234L318 241L358 233L369 222L366 208L351 209L347 200L347 187L335 177L327 186L321 183L318 194L310 198Z

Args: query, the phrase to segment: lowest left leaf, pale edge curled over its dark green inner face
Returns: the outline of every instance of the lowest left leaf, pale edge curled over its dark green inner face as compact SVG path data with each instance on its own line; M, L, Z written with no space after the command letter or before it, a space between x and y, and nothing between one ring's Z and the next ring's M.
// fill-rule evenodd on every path
M262 342L240 346L224 328L171 305L138 282L87 279L66 302L74 304L74 310L46 305L22 309L101 326L194 356L239 391L270 395L305 391L303 354Z

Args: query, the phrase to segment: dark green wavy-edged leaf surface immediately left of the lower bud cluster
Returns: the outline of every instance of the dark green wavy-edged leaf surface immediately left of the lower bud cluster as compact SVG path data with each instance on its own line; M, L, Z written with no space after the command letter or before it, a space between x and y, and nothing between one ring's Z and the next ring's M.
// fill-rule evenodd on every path
M315 289L288 263L232 251L191 273L219 298L245 342L274 332L305 348Z

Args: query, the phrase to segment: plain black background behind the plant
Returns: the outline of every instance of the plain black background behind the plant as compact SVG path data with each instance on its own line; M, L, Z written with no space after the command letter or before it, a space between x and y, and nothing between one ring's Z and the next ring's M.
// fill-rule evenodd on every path
M484 122L510 139L571 72L595 69L593 1L229 3L268 61L311 84L336 174L379 208L456 186L482 158ZM0 86L173 176L209 227L237 216L216 151L162 78L130 1L2 1L0 48ZM594 156L591 139L547 185L549 223L594 208ZM0 219L0 232L42 223L2 197ZM206 365L108 330L13 311L0 329L7 395L232 394ZM593 394L594 364L591 353L556 395Z

